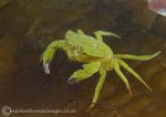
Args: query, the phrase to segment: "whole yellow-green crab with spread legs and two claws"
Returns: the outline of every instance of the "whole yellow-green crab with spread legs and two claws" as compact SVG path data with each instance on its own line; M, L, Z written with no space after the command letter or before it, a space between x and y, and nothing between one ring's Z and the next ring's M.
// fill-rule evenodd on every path
M152 91L141 76L123 61L123 59L147 61L157 56L160 51L152 55L114 54L112 49L103 42L103 35L111 35L118 39L121 39L121 36L106 31L96 31L94 32L94 35L95 38L86 35L82 30L77 30L76 32L69 30L65 33L64 40L53 41L43 52L41 57L45 73L50 74L50 62L58 49L63 50L70 60L84 63L83 68L74 72L68 79L69 84L82 82L98 72L101 77L95 87L90 108L92 108L97 100L105 82L106 71L114 70L120 78L125 83L129 94L132 95L128 81L120 70L121 66Z

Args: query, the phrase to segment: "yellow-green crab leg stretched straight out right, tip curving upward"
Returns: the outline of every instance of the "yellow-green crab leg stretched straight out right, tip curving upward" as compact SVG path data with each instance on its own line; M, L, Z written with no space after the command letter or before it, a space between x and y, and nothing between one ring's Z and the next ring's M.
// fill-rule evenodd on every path
M147 61L152 60L155 56L157 56L160 53L160 51L156 52L152 55L131 55L131 54L115 54L114 56L117 59L129 59L129 60L139 60L139 61Z

